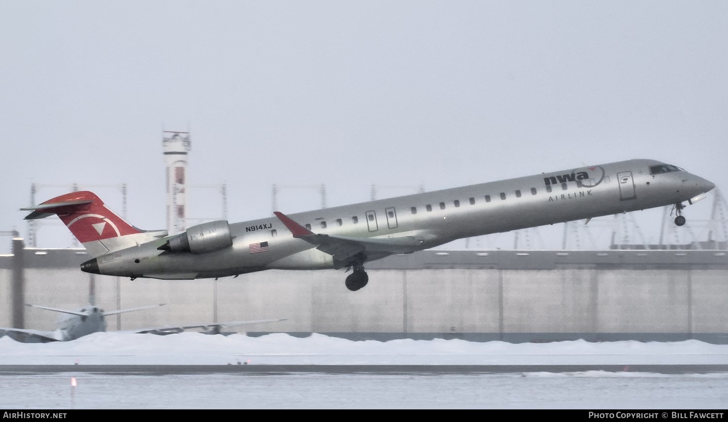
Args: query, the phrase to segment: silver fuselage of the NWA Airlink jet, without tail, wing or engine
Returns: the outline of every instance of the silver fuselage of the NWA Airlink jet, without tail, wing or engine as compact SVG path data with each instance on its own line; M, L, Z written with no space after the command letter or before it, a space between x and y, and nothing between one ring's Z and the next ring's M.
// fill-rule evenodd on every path
M679 204L713 183L648 159L579 167L523 178L379 199L288 215L315 234L356 239L416 239L424 250L469 236ZM194 279L265 269L341 268L332 255L293 236L282 220L229 225L232 245L205 253L160 250L173 236L110 252L84 271L114 276ZM366 252L365 260L391 255ZM91 262L91 261L88 261Z

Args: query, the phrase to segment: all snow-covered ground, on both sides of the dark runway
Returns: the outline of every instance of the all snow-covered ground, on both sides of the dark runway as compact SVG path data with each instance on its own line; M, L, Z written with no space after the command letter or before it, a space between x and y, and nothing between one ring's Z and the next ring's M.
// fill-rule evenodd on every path
M728 365L728 345L461 340L349 341L96 333L66 343L0 338L0 365ZM0 408L724 409L728 373L3 373ZM71 377L77 386L71 387Z

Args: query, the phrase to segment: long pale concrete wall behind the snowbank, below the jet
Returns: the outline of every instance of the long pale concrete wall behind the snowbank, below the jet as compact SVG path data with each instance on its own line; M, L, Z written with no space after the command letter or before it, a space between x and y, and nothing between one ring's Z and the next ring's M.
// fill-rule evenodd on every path
M288 318L240 331L380 340L698 338L728 343L728 266L590 267L371 268L369 284L357 292L344 287L347 274L333 270L191 281L95 276L94 281L96 303L107 310L167 303L110 317L109 330ZM79 308L88 302L92 276L77 268L75 263L27 268L25 300ZM10 271L0 268L4 327L10 323L10 279ZM25 325L51 330L57 317L28 308Z

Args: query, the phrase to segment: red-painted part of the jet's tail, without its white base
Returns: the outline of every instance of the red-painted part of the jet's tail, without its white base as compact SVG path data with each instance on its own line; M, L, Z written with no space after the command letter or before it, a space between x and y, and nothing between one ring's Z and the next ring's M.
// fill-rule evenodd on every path
M21 208L21 210L33 210L25 217L26 220L58 215L76 239L83 244L142 233L106 208L103 201L89 191L56 196L36 207Z

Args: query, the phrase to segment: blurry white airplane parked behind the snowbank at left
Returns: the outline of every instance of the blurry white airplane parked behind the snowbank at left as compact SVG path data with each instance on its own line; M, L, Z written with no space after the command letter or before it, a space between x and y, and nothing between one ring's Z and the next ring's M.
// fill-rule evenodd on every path
M122 314L124 312L140 311L141 309L157 308L164 306L164 303L152 306L142 306L140 308L119 309L118 311L106 312L102 308L94 305L86 305L76 311L68 311L66 309L50 308L48 306L36 306L28 303L25 306L33 308L46 309L47 311L60 312L57 322L57 328L54 331L43 330L25 330L23 328L0 328L0 337L7 335L15 341L21 343L50 343L52 341L71 341L81 338L84 335L92 333L106 332L106 317L109 315ZM284 321L285 319L261 319L259 321L237 321L237 322L220 322L213 324L193 324L180 325L176 327L151 327L138 330L116 331L116 333L151 333L158 335L181 333L184 330L202 329L207 334L219 334L221 328L237 327L240 325L261 324L264 322Z

